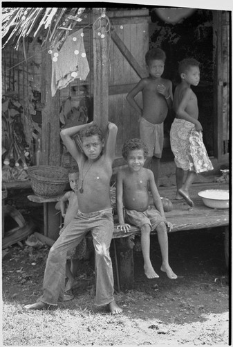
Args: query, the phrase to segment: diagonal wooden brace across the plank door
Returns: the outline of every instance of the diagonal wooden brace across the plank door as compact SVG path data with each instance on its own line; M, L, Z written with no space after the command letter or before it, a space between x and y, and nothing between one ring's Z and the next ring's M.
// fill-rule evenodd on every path
M124 58L127 59L131 67L136 71L138 76L140 78L143 78L146 76L147 72L145 69L143 69L137 62L137 60L133 57L129 49L127 49L127 46L125 46L124 42L120 39L117 33L115 31L111 31L111 39L115 43L116 46L118 46L118 49L120 49L120 52L123 54Z

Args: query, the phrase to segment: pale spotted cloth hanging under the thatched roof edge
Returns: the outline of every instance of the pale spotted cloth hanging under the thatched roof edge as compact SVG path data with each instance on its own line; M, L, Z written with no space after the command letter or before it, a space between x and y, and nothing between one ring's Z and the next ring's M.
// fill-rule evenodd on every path
M83 37L84 33L80 29L67 37L60 51L60 42L49 51L52 58L52 96L55 96L58 89L67 87L75 78L86 80L90 69Z

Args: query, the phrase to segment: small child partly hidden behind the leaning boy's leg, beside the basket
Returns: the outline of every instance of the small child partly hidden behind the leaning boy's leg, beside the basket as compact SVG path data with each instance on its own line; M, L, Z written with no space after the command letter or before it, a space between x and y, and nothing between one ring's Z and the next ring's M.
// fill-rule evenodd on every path
M62 213L62 217L64 218L64 226L62 230L60 230L59 235L62 234L63 230L68 226L68 223L72 221L72 219L77 215L78 212L78 203L77 203L77 189L78 189L78 171L71 170L68 173L68 179L71 186L71 191L66 192L64 196L59 201L59 208ZM68 204L67 204L68 203ZM71 260L71 267L68 262L66 262L66 276L68 277L68 281L66 283L65 291L67 292L75 285L75 276L77 274L78 267L80 265L80 259L84 258L86 254L86 239L85 237L82 239L80 244L78 244L75 248L71 249L67 252L66 259Z

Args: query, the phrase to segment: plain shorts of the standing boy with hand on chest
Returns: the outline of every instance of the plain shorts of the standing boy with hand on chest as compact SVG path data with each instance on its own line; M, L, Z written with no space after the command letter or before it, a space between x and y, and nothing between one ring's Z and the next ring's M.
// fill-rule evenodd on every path
M148 157L162 157L162 147L164 141L163 123L152 124L147 119L141 117L139 124L140 139L148 147Z

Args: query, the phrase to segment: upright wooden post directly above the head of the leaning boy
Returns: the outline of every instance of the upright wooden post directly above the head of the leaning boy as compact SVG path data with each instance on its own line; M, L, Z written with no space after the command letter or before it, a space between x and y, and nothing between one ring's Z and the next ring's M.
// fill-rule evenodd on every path
M109 19L104 17L105 8L93 8L93 69L94 69L94 115L95 124L106 132L109 121L109 57L107 35Z

